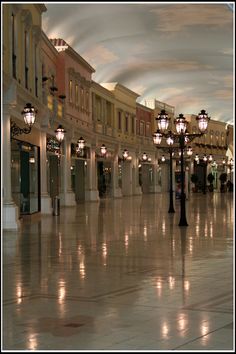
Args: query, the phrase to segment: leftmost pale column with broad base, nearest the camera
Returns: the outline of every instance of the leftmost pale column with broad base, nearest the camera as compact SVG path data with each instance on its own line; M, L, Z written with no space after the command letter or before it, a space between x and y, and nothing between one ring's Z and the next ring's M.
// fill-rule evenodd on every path
M10 114L4 106L3 112L3 133L2 133L2 196L3 196L3 229L17 230L19 223L19 209L12 199L11 189L11 133Z

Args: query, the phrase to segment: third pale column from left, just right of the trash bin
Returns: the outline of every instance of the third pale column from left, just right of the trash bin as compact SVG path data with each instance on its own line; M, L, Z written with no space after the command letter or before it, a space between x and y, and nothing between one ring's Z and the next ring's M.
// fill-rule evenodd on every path
M61 157L61 192L60 199L63 206L75 206L75 194L71 188L71 139L65 136L63 142L64 155Z

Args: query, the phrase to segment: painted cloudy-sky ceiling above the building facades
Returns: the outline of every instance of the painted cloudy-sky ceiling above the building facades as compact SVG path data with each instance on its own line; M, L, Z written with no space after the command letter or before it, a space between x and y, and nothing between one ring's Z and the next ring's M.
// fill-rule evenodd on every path
M175 113L233 124L234 3L45 3L43 30L96 72Z

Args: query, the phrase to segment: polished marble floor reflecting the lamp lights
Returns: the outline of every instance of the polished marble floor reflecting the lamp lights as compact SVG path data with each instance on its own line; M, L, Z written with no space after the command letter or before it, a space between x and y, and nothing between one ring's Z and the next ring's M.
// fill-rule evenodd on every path
M233 351L234 197L104 199L2 231L2 350Z

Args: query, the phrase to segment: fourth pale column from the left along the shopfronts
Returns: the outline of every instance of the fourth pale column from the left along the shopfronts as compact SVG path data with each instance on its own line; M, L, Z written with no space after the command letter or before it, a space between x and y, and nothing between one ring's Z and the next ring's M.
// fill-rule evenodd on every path
M97 189L97 166L96 166L96 146L91 146L90 159L87 160L87 189L85 190L85 200L99 201Z

